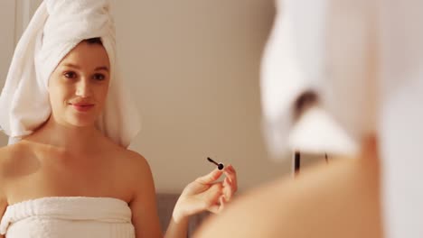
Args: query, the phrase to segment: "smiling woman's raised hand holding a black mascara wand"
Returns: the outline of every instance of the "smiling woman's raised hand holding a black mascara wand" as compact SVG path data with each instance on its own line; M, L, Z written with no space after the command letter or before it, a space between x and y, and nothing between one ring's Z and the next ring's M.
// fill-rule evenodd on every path
M217 182L222 174L226 177L223 181ZM237 174L231 165L222 170L212 170L208 175L195 179L183 189L181 197L174 206L174 221L178 223L183 218L202 211L221 212L237 189Z

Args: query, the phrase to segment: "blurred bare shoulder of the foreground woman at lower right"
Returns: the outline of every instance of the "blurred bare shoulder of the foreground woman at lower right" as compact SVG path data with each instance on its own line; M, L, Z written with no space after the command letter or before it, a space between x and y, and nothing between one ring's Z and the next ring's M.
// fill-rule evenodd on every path
M241 195L195 237L381 237L377 178L360 160L280 178Z

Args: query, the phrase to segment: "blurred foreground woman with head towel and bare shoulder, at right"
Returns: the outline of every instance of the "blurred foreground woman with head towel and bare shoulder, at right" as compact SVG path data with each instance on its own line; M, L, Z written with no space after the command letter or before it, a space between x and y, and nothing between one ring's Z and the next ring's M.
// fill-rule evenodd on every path
M335 159L240 197L197 237L422 237L421 6L277 1L261 78L270 149ZM329 131L292 140L324 118L356 148Z

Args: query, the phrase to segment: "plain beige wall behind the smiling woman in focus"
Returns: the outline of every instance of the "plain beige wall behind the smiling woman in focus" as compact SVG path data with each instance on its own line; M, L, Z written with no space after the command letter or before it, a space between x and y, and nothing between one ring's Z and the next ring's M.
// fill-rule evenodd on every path
M25 13L40 2L0 2L2 84ZM241 189L291 171L290 160L268 160L260 133L258 70L271 0L112 3L120 66L143 116L130 148L149 161L158 191L178 192L213 169L208 156L233 164Z

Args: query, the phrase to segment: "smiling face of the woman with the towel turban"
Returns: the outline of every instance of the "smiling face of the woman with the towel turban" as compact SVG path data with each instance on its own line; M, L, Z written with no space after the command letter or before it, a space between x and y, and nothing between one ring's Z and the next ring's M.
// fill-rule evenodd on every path
M93 125L108 95L110 64L99 43L81 41L49 79L52 118L60 124Z

